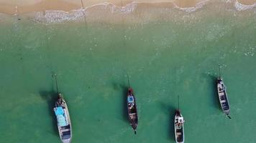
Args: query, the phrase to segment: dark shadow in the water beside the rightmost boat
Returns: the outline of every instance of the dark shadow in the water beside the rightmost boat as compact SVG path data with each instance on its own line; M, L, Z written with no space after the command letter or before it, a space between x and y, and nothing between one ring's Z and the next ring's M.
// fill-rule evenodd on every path
M212 101L214 104L214 107L216 107L216 109L221 110L220 104L219 104L219 97L218 97L218 91L217 91L217 77L213 76L213 75L208 75L210 77L211 80L211 97L212 97Z

